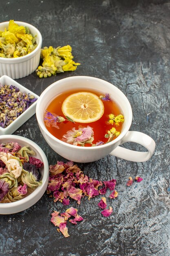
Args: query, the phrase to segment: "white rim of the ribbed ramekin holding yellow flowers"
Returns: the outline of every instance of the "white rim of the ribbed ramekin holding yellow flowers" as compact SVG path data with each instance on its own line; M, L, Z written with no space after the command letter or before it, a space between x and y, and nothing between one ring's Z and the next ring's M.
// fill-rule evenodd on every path
M0 57L0 62L1 63L18 63L18 62L23 62L27 59L30 59L32 56L34 56L41 48L42 46L42 35L40 33L40 31L34 27L33 25L27 23L27 22L23 22L23 21L15 21L15 23L17 23L18 25L20 26L24 26L24 27L29 27L29 29L35 29L36 31L36 34L37 34L37 38L39 40L38 44L37 44L37 47L32 51L30 52L29 54L26 54L25 56L21 56L21 57L18 57L18 58L3 58L3 57ZM4 22L0 22L0 26L1 25L8 25L9 24L9 21L4 21Z

